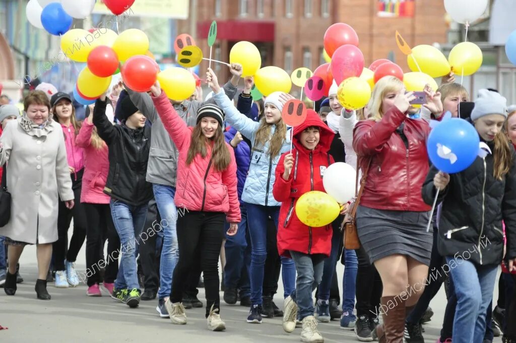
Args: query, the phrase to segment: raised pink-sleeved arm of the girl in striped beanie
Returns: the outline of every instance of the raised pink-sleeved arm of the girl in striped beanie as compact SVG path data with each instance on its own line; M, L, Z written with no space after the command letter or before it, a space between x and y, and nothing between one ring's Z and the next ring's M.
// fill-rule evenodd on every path
M183 144L185 144L187 139L191 136L191 131L188 130L186 123L181 119L178 113L175 112L174 107L172 107L166 93L159 86L158 81L151 87L151 90L151 99L159 117L162 119L163 126L175 146L181 150Z

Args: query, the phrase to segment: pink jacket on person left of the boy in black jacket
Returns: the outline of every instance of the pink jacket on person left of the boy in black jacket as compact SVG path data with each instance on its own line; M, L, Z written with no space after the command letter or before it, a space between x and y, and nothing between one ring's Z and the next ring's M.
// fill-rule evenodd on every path
M106 144L101 149L95 149L91 145L93 128L93 124L85 120L77 138L75 138L77 146L84 149L85 167L80 202L109 204L110 197L104 193L104 186L109 173L108 148Z

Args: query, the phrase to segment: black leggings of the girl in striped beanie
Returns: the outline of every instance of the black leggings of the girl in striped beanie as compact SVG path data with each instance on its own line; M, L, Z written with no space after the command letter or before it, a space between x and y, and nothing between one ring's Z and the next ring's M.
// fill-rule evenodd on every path
M206 291L206 317L212 305L220 311L218 263L224 219L224 213L220 212L190 211L179 217L177 224L179 261L174 269L170 301L183 300L188 275L200 265Z

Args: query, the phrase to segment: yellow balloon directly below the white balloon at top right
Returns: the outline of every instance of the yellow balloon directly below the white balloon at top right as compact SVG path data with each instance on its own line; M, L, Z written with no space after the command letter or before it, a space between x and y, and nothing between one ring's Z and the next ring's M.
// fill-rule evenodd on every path
M457 75L471 75L482 65L482 51L475 43L462 42L451 49L448 61Z

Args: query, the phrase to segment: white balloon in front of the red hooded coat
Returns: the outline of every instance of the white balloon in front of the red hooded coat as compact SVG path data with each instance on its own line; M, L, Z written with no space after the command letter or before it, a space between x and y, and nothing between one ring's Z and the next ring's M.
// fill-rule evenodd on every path
M330 165L324 172L322 184L326 193L331 195L339 204L346 204L354 197L357 172L344 162Z

